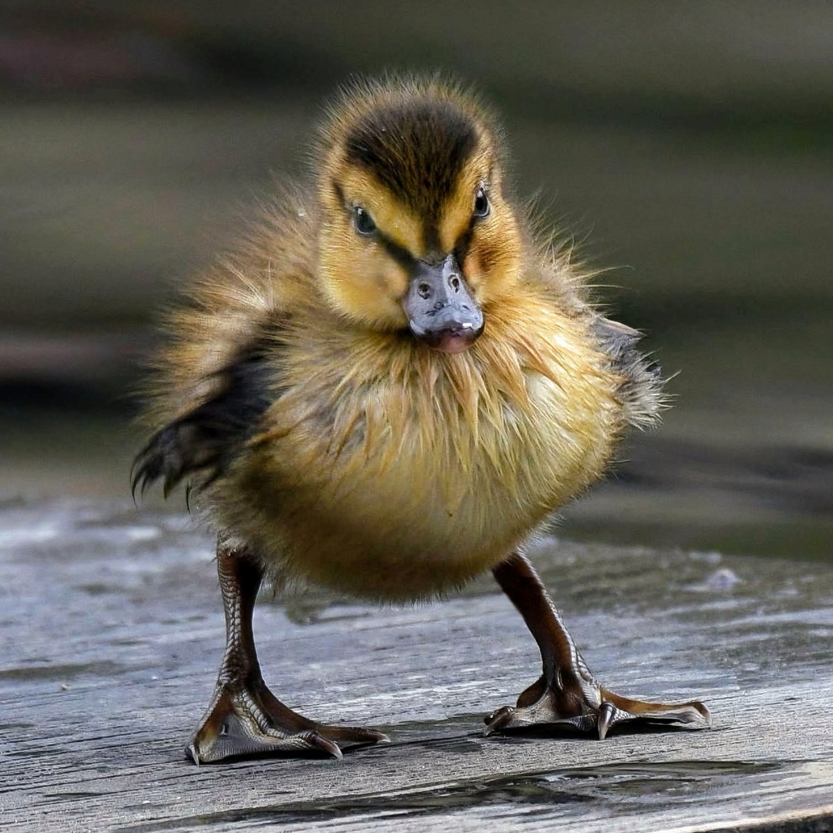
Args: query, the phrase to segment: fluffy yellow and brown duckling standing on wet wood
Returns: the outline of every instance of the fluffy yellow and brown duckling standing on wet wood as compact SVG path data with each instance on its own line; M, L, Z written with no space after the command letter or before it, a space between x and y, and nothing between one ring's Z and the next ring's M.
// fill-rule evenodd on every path
M626 427L656 421L662 380L533 231L505 170L496 119L464 87L357 82L328 112L311 182L279 189L169 312L133 491L188 481L217 530L226 651L195 763L387 741L267 688L264 578L414 601L491 571L543 669L487 733L709 725L699 701L602 686L524 555Z

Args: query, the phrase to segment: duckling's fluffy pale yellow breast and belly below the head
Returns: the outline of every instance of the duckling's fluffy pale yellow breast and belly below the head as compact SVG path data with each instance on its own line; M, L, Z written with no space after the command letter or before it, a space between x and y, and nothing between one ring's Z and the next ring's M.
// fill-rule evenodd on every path
M488 320L459 355L293 320L281 394L212 487L222 523L279 571L365 596L501 561L601 475L622 411L588 321L534 294Z

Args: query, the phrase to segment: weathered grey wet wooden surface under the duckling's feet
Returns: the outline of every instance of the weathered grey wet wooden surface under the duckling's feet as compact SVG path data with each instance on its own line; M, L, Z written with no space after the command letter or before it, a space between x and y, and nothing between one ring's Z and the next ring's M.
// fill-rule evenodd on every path
M132 506L0 507L0 829L831 830L833 566L554 541L534 556L611 688L701 696L715 728L484 738L483 714L539 671L484 580L402 609L263 599L273 688L392 745L197 768L182 749L223 638L211 536Z

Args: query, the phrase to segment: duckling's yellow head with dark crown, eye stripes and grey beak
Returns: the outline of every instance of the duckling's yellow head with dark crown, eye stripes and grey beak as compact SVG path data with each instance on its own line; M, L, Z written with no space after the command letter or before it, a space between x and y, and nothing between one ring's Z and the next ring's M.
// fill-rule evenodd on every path
M491 117L460 87L348 90L318 157L318 274L332 307L444 352L470 347L520 268L502 159Z

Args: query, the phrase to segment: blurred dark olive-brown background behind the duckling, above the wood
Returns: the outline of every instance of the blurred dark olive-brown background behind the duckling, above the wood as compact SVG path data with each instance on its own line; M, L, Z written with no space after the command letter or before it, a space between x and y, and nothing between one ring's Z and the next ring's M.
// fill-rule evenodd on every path
M830 557L833 2L3 0L0 499L129 499L154 310L338 83L436 67L678 374L561 534Z

